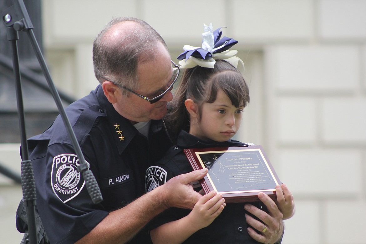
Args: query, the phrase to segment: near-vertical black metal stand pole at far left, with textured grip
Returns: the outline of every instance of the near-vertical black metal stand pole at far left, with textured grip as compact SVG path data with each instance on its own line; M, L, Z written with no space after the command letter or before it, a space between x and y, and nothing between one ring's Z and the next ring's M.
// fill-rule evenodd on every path
M31 161L28 155L28 143L25 130L25 116L23 107L22 84L19 70L18 46L16 41L19 40L18 32L13 27L7 27L8 41L11 43L14 80L16 89L16 101L18 105L19 129L21 140L21 176L22 176L22 191L25 204L27 207L28 217L28 233L30 243L38 243L36 234L36 186L34 184L34 174Z

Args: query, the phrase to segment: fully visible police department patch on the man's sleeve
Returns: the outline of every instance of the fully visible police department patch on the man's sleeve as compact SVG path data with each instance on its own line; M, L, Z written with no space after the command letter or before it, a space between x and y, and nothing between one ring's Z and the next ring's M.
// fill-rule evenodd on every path
M89 166L88 162L86 164ZM78 156L75 154L60 154L53 158L51 187L64 203L77 196L85 185L77 168L79 165Z

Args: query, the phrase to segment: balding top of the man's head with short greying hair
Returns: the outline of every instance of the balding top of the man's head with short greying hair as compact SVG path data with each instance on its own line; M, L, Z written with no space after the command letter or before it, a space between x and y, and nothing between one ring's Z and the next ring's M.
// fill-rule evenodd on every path
M101 84L107 79L136 90L138 63L156 59L161 45L169 53L163 38L145 21L113 19L94 40L95 76Z

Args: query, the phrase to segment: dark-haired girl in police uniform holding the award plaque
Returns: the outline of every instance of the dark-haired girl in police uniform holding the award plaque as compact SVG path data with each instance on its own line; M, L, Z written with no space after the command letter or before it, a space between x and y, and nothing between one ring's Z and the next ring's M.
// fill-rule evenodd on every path
M233 56L230 58L232 63ZM190 58L186 56L186 59ZM192 171L183 149L247 146L231 139L239 130L243 109L249 102L249 88L242 74L226 60L211 61L214 63L212 68L207 67L211 64L202 64L202 60L193 61L198 65L184 70L171 102L171 112L166 118L176 145L156 166L147 169L148 191L174 176ZM238 58L234 65L237 63ZM182 67L187 65L185 60L180 64L183 64ZM191 67L194 64L190 62L188 65ZM199 184L194 184L194 187L197 191L201 189ZM293 214L294 204L291 192L285 186L284 191L287 203L278 205L284 218L288 218ZM284 194L277 192L280 198L284 198ZM251 204L265 210L261 202ZM247 232L250 227L246 223L248 214L244 203L226 205L221 194L210 192L195 204L193 210L175 208L158 215L149 225L150 235L153 243L258 243ZM264 224L261 226L264 227L258 234L267 229Z

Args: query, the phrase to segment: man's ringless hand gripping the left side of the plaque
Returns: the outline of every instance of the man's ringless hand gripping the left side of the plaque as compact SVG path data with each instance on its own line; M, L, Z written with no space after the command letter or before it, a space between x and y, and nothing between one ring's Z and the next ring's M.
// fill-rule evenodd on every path
M202 179L207 172L208 169L194 170L175 176L164 185L161 185L160 187L163 188L162 199L164 199L164 204L167 208L193 209L202 195L194 191L190 183Z

